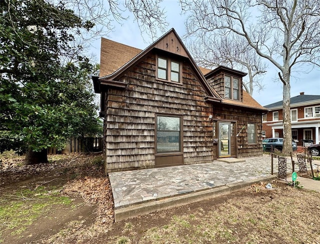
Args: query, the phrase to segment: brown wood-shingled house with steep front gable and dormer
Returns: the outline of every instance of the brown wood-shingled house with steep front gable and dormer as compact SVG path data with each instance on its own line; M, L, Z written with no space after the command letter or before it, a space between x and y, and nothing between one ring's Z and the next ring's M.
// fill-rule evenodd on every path
M92 79L105 172L261 155L266 109L242 90L244 75L199 68L174 29L144 50L102 38Z

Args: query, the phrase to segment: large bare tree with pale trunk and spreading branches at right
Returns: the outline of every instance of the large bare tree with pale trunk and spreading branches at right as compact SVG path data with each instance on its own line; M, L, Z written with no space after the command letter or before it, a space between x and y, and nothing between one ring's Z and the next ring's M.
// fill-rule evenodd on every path
M320 66L319 0L180 0L188 33L235 33L278 70L283 83L284 151L292 151L290 77Z

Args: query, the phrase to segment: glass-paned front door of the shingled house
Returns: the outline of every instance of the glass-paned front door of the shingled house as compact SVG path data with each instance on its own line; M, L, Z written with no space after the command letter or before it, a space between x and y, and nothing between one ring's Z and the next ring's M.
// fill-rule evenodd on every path
M219 122L219 157L230 156L230 123Z

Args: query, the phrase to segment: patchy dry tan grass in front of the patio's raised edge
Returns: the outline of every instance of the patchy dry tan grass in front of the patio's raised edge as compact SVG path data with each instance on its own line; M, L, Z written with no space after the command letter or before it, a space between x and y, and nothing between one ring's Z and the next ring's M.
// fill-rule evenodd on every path
M320 243L320 193L286 185L256 192L256 187L223 196L222 202L213 198L192 204L194 207L180 207L179 213L172 215L161 211L145 220L132 220L134 226L144 226L143 230L135 227L135 234L118 238L125 243L154 244ZM148 221L153 226L148 226Z

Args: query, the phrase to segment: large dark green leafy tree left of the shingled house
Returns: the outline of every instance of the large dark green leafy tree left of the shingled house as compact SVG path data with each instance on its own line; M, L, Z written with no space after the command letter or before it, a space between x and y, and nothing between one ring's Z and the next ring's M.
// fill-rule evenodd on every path
M96 133L99 120L88 89L96 67L71 46L88 30L63 3L6 0L0 5L1 151L26 151L26 163L46 162L46 148L79 133Z

